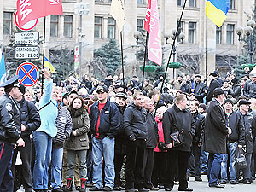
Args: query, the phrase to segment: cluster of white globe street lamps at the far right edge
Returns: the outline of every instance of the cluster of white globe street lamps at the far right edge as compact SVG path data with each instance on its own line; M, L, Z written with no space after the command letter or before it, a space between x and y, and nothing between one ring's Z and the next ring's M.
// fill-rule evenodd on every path
M248 54L250 55L250 63L253 63L253 53L254 53L254 44L253 44L253 29L256 26L254 20L249 20L247 26L244 28L237 26L235 31L238 35L238 41L242 41L247 44ZM245 33L245 37L241 37L242 33Z

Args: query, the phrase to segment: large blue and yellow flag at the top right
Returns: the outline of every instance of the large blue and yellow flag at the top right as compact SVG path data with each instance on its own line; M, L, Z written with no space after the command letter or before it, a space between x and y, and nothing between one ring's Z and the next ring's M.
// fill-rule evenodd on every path
M220 27L227 19L227 13L230 9L230 0L207 0L206 14L212 22Z

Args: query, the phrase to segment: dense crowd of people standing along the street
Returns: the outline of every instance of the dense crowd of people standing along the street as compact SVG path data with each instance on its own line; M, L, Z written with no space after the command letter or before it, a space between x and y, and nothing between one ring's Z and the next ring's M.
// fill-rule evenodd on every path
M256 67L130 81L54 83L44 89L0 85L0 191L179 191L189 179L208 186L251 184L256 168ZM160 91L162 89L162 91ZM244 165L238 151L244 151ZM229 169L230 167L230 169Z

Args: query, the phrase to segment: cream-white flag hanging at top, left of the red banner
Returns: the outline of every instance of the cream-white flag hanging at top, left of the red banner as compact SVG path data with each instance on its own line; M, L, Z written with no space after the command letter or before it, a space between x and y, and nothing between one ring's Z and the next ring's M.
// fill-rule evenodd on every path
M119 32L122 32L125 25L124 0L112 0L110 14L116 20Z

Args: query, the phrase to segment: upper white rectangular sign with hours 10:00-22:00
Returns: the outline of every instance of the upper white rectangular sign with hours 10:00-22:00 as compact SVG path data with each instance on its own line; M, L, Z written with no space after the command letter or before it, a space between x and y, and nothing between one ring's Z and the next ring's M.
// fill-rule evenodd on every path
M15 44L39 44L39 32L15 32Z

